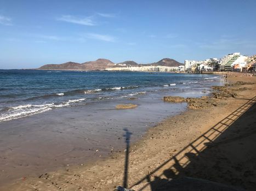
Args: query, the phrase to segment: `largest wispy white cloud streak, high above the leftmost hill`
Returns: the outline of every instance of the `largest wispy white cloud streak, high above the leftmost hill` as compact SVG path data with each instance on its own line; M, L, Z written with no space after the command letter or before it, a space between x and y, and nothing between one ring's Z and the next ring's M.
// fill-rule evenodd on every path
M65 21L71 22L78 25L87 25L87 26L94 26L96 23L92 20L92 17L84 17L84 18L77 18L71 15L62 15L61 17L57 18L58 21Z

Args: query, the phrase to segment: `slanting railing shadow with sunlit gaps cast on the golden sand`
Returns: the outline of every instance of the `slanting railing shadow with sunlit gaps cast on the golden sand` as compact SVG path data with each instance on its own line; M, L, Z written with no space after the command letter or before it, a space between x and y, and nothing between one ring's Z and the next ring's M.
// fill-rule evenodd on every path
M236 111L232 112L232 114L215 124L211 129L207 130L207 132L203 133L199 138L192 141L177 154L166 160L166 162L162 163L155 170L145 175L138 182L132 184L130 189L135 189L136 191L159 190L161 186L166 184L168 181L173 180L173 178L186 176L186 174L184 174L184 169L186 169L186 167L193 161L198 160L198 156L200 153L204 152L206 148L214 146L214 144L216 144L215 140L227 131L227 128L229 128L233 123L238 121L238 118L249 110L255 102L256 96L248 100L248 102L243 104ZM151 180L151 178L153 180ZM124 186L126 185L127 184L124 184Z

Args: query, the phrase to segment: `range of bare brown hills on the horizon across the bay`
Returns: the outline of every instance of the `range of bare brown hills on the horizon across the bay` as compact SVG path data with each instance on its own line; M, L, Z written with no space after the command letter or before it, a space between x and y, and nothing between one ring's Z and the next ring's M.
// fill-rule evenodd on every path
M45 64L38 68L39 70L105 70L106 68L125 67L125 65L141 65L134 61L124 61L118 64L111 62L109 59L99 58L96 61L89 61L84 63L66 62L63 64ZM184 65L174 59L163 58L158 62L144 64L144 65L163 65L167 67L178 67Z

